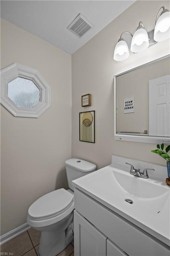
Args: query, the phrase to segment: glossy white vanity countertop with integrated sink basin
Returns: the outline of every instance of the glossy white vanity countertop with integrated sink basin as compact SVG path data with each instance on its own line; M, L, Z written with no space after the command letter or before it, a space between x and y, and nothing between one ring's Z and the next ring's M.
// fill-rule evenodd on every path
M133 176L126 170L109 165L72 184L148 233L160 235L157 238L168 244L170 187L158 180Z

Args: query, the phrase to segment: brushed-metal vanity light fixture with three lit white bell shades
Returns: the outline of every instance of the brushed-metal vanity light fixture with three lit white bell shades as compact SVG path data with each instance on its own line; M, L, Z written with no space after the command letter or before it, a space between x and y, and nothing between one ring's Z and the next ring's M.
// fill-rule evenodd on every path
M163 10L161 11L161 9ZM122 34L124 33L130 34L132 37L130 50L133 53L144 51L155 43L170 38L170 12L164 6L159 9L156 16L155 29L152 31L147 32L140 21L134 35L129 32L123 32ZM114 60L116 61L123 61L129 57L128 44L122 38L122 34L114 51Z

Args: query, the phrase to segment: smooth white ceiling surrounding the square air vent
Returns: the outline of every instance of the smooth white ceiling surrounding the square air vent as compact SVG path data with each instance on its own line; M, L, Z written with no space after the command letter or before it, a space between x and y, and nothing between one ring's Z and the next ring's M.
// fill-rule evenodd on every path
M1 18L73 54L135 1L1 1ZM82 13L94 27L78 38L67 27Z

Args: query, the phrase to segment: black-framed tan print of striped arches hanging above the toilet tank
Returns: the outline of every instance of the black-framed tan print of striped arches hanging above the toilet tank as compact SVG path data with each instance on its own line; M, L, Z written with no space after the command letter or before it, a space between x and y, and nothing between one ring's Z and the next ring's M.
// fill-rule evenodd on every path
M95 143L95 111L79 113L79 140Z

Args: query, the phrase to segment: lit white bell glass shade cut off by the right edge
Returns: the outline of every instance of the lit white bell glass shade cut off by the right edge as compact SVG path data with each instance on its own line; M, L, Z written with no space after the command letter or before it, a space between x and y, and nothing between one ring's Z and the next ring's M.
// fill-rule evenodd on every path
M164 12L158 18L153 38L157 42L165 41L170 38L170 12Z

